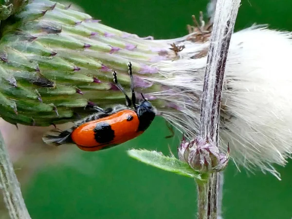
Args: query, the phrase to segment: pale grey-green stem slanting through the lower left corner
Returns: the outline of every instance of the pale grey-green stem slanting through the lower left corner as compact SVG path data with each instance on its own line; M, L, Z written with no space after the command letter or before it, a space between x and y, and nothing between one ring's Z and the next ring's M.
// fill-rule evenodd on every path
M0 189L11 219L31 219L25 206L18 179L14 172L0 132Z

